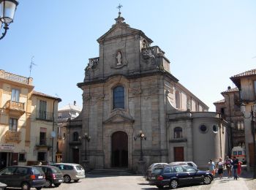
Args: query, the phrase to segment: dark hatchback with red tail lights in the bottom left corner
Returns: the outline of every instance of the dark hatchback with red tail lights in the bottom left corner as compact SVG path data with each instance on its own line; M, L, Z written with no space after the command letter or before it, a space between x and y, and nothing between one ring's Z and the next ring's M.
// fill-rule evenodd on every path
M7 184L7 187L38 190L45 186L45 174L37 167L10 166L0 171L0 182Z

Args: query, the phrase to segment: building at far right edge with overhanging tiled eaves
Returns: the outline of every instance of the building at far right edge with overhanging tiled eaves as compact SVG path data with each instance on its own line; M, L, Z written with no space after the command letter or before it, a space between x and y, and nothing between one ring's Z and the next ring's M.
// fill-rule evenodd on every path
M230 80L235 83L239 89L240 102L246 105L244 113L244 132L246 144L246 161L247 165L252 167L254 163L254 145L252 136L252 106L256 101L256 69L242 72L238 75L230 77ZM256 110L253 110L254 114ZM255 121L254 121L255 122ZM254 123L256 127L256 123Z

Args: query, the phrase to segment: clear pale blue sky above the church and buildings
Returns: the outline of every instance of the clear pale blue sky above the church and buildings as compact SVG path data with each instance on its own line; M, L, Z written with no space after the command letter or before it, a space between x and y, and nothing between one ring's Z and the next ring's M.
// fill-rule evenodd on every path
M34 56L34 90L58 95L59 107L82 105L76 85L99 56L96 40L115 23L119 3L129 26L165 51L170 72L211 111L234 87L229 77L256 67L255 0L20 0L0 41L0 69L29 77Z

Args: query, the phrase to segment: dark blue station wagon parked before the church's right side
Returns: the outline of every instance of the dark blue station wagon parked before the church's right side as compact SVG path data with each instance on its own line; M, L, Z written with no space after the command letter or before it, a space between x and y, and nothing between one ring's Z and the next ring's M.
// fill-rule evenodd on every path
M187 165L174 165L159 167L152 171L148 181L151 186L157 186L162 189L169 186L170 189L176 189L178 186L196 183L210 184L214 179L211 173L196 170Z

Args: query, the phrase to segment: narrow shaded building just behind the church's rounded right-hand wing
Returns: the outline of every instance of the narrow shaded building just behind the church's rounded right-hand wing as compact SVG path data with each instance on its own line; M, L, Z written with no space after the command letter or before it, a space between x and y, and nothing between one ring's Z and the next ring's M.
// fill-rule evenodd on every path
M240 96L238 88L227 88L227 91L222 91L224 99L214 102L216 112L221 113L222 118L228 122L227 124L227 148L228 154L231 155L231 150L235 146L245 148L244 137L244 117L240 109Z

